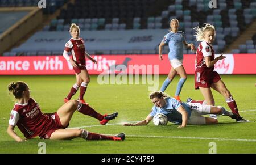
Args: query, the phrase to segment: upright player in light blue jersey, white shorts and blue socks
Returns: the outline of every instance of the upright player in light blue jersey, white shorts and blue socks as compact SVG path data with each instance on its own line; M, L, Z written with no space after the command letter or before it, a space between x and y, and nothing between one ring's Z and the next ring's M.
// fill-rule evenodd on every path
M171 83L172 79L179 73L180 80L177 84L177 89L175 92L175 98L180 100L180 92L183 84L187 79L187 73L183 67L183 45L186 48L191 48L193 52L196 52L196 48L193 44L188 44L185 40L184 32L178 31L179 28L179 20L172 19L170 22L170 32L164 36L162 42L159 45L159 59L163 60L162 57L162 48L165 44L169 45L169 54L168 58L171 62L171 70L168 74L168 77L164 81L160 91L164 92L168 85Z

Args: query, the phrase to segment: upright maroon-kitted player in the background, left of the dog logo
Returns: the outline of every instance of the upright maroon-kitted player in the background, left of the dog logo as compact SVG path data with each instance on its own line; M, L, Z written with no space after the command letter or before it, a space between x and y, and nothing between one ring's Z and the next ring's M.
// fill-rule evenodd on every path
M85 57L92 60L92 62L95 64L97 64L97 61L90 57L90 55L85 51L84 40L79 37L79 26L77 26L75 23L72 23L69 32L72 38L65 44L63 56L72 64L73 69L75 70L76 83L71 88L68 96L64 98L64 102L67 103L67 101L69 101L72 96L76 94L80 87L80 95L78 100L85 104L84 94L88 83L90 82L89 73L85 66ZM69 58L68 52L71 52L72 58Z

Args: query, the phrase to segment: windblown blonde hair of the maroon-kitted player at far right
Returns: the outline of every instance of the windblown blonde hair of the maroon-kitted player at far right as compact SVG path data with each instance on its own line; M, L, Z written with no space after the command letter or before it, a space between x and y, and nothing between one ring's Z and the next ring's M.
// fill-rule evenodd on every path
M196 30L196 34L194 35L196 36L196 41L204 41L204 35L207 31L213 31L214 35L216 35L215 27L209 23L205 23L204 27L195 27L193 29Z

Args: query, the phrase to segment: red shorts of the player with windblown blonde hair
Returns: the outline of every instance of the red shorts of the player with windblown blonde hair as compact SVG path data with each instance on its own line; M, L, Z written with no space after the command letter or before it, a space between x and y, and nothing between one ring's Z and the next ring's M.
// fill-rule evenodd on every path
M221 79L217 71L208 69L196 69L195 71L195 89L199 87L210 88L212 83L216 83Z

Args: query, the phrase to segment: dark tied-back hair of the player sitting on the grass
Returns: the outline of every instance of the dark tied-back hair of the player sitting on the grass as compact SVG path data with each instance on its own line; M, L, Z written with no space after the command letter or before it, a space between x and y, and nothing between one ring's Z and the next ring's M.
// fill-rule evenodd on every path
M16 99L22 98L23 91L27 90L27 84L22 81L11 82L8 86L9 92L12 92Z

